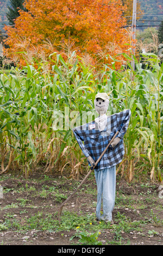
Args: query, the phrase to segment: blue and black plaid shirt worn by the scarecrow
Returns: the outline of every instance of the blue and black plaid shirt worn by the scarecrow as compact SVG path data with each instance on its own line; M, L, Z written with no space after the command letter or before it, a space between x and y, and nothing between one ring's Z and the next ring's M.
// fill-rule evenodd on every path
M83 154L86 157L91 156L95 162L99 156L101 156L111 138L117 131L119 131L117 137L121 138L121 141L113 149L109 148L106 150L101 161L99 161L95 167L95 170L109 168L122 161L124 155L123 136L128 129L130 115L130 109L110 115L107 118L107 124L103 131L98 130L95 121L73 129L74 136L76 137Z

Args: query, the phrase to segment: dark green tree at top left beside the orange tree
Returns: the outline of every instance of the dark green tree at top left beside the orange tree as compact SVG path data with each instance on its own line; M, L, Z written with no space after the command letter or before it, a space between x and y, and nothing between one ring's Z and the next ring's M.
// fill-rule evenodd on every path
M26 9L23 7L24 0L10 0L10 6L8 6L7 18L9 21L9 25L15 25L15 19L20 16L18 10Z

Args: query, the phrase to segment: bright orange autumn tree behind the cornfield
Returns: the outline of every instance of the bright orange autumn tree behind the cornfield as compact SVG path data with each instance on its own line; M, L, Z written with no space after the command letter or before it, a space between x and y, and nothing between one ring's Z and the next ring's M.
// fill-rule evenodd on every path
M24 7L27 11L20 10L15 27L5 26L10 57L32 48L46 56L52 52L64 56L63 42L79 56L90 54L95 62L106 54L115 56L127 50L126 7L121 0L28 0Z

